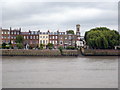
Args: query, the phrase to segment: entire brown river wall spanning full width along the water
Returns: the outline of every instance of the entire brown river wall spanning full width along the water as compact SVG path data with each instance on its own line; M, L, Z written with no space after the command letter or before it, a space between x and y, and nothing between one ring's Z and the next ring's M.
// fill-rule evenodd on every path
M120 50L81 49L81 50L24 50L24 49L1 49L1 56L120 56Z

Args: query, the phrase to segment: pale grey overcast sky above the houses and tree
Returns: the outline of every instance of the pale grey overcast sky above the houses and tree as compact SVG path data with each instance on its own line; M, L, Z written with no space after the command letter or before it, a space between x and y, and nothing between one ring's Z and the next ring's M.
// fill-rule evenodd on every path
M2 28L22 31L66 31L81 25L81 34L94 27L118 29L117 2L4 2Z

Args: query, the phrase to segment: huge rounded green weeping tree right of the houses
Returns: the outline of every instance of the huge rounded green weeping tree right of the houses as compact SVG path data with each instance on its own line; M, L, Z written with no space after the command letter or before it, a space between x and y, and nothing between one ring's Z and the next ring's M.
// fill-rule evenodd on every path
M86 44L93 49L112 49L120 45L120 34L106 27L97 27L85 33Z

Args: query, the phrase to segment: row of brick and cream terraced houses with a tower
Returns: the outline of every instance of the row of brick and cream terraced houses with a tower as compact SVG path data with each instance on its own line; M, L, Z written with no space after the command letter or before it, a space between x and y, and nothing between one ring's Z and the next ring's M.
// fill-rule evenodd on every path
M1 29L2 31L2 43L9 43L11 42L13 45L16 45L16 36L22 35L24 38L24 45L30 45L31 47L40 46L40 44L44 44L45 46L48 43L52 43L54 48L58 48L62 46L66 48L67 46L83 46L83 42L81 40L83 37L80 35L80 25L76 25L76 32L75 34L56 31L51 32L48 30L47 32L32 31L29 30L28 32L22 32L21 28L19 29ZM82 38L82 39L81 39Z

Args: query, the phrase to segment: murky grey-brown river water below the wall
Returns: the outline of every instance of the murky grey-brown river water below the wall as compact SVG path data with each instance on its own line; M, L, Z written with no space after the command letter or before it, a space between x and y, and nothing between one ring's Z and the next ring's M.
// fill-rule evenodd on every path
M118 57L2 57L3 88L117 88Z

